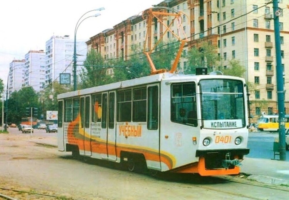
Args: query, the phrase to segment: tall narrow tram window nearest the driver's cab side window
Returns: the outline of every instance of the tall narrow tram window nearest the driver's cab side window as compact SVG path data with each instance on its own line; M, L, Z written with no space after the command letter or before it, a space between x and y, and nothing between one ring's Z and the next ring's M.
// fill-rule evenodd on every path
M159 92L158 86L148 87L148 103L147 103L147 129L157 130L159 119Z

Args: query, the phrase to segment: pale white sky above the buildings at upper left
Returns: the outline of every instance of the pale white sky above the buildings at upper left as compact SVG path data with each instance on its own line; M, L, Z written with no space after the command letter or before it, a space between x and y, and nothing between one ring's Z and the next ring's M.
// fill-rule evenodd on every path
M53 35L69 35L73 39L79 18L101 14L81 22L76 39L89 40L101 31L112 28L127 18L163 0L9 0L0 6L0 79L6 88L9 64L22 60L29 50L45 50ZM83 19L83 18L81 18Z

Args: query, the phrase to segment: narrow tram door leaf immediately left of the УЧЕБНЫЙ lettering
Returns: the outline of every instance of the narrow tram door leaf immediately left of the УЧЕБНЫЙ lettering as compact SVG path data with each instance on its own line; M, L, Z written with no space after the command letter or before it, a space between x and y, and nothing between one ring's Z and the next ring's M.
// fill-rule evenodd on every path
M108 93L108 129L106 135L106 151L108 160L116 161L116 124L115 124L115 110L116 110L116 92Z

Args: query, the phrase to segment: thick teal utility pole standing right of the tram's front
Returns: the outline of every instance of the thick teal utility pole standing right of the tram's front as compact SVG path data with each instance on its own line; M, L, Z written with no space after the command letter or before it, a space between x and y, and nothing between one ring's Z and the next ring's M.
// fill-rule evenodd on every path
M278 113L279 113L279 153L280 160L286 160L285 149L285 106L284 106L284 81L283 69L281 60L281 42L280 42L280 25L279 25L279 7L278 0L273 0L274 14L274 34L275 34L275 49L276 49L276 74L277 74L277 98L278 98Z

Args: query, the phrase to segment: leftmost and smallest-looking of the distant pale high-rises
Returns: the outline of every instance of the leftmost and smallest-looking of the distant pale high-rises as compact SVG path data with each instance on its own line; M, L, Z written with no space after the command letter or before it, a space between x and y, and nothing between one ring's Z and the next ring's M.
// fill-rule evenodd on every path
M9 64L8 73L8 95L20 90L22 86L23 67L25 60L13 60Z

